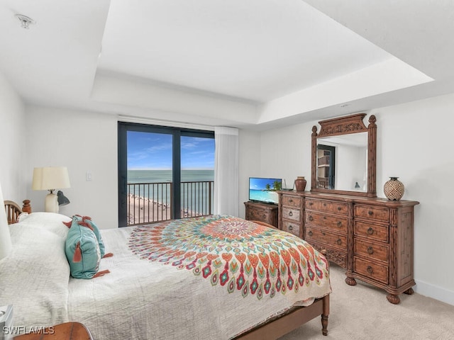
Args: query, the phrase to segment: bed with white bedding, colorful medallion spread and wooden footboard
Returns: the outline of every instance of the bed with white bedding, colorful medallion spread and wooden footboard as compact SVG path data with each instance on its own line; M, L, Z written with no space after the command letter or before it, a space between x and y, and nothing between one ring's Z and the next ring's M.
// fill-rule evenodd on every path
M303 240L267 225L211 215L102 229L104 276L72 278L70 217L33 212L10 225L0 305L17 327L82 322L94 339L277 339L321 316L328 263Z

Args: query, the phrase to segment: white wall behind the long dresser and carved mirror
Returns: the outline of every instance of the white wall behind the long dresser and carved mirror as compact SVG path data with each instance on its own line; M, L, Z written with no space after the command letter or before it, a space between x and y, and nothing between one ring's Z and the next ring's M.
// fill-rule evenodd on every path
M370 113L377 117L377 196L384 197L384 183L398 176L405 185L402 199L421 203L415 207L414 289L454 305L453 112L450 94ZM307 176L310 190L311 128L317 123L262 132L260 173ZM280 162L269 157L273 151L282 155Z

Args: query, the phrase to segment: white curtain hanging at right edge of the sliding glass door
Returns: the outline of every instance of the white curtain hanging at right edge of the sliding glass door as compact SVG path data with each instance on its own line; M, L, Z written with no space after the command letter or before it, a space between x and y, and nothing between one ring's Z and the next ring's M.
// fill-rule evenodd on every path
M214 128L214 214L238 216L238 129Z

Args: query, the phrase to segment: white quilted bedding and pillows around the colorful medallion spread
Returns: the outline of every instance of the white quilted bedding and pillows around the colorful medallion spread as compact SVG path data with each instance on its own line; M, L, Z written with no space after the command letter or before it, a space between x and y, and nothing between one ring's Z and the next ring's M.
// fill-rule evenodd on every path
M230 339L303 300L304 294L261 300L229 294L226 286L211 285L192 271L139 259L128 248L133 227L102 230L106 252L114 256L102 259L99 269L110 273L70 278L65 229L60 231L58 217L52 219L45 226L24 220L10 227L14 250L0 261L0 305L13 305L16 326L77 321L96 340ZM329 280L314 292L330 293Z

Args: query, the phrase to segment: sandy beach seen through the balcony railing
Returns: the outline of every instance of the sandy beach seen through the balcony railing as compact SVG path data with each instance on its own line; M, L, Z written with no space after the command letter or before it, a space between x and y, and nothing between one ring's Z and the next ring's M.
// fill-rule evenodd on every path
M199 215L196 212L182 210L181 216L196 217ZM128 225L153 223L170 220L171 218L170 205L133 194L128 197Z

